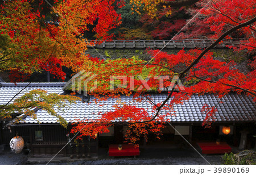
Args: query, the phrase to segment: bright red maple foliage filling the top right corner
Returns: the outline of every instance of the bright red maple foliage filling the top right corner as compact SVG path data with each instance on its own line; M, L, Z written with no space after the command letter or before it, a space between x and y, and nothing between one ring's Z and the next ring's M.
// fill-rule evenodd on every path
M197 18L194 18L176 39L217 39L230 28L255 17L255 2L250 0L199 1L197 6L199 7L190 10L191 15L197 14ZM237 48L238 51L252 51L255 49L254 33L255 23L233 32L226 38L237 39L240 42L239 47L230 47Z

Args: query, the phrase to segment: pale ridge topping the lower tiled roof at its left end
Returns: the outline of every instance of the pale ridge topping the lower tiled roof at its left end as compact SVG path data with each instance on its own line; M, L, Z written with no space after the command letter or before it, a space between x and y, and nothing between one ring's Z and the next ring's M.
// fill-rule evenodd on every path
M29 85L28 85L29 84ZM13 82L0 82L0 87L25 87L28 85L28 87L42 87L42 86L61 86L63 87L66 84L66 82L17 82L16 84Z

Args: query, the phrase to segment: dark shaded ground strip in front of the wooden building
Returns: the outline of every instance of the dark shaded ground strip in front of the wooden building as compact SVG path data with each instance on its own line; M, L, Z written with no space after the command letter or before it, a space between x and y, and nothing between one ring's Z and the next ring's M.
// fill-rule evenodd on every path
M109 157L108 148L101 148L97 159L53 159L52 165L205 165L207 161L212 165L221 164L222 155L203 155L201 157L193 148L141 148L141 155L137 157ZM0 164L47 164L47 159L30 159L23 153L15 154L9 149L0 153ZM206 161L207 160L207 161Z

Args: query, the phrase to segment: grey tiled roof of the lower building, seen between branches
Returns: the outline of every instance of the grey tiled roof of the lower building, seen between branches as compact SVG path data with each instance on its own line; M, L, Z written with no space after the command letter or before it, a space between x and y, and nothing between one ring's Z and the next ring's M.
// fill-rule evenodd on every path
M0 99L1 104L11 99L16 92L24 88L24 84L1 84L0 87ZM34 86L33 86L34 85ZM63 93L64 83L38 83L28 87L26 91L32 89L44 89L49 93ZM161 103L166 99L167 93L151 94L150 98L155 103ZM253 98L243 94L230 93L225 95L222 99L222 103L218 103L220 99L213 94L197 95L193 94L188 101L185 101L182 105L174 105L174 114L168 116L172 122L202 122L205 118L205 114L201 113L201 108L204 104L213 106L217 104L216 122L255 122L256 121L256 105L253 102ZM152 105L147 101L137 102L133 101L133 97L121 95L120 99L109 98L106 101L94 102L94 97L90 98L88 102L77 102L76 104L69 105L63 111L58 111L58 114L63 116L68 122L72 122L75 118L88 118L97 119L98 112L106 113L107 111L114 110L113 105L118 102L125 102L127 105L135 105L137 107L143 107L147 110L149 115L152 113ZM166 111L162 110L162 113ZM49 115L46 111L36 111L38 120L42 123L56 123L56 117ZM30 116L24 119L25 123L36 123L36 121Z

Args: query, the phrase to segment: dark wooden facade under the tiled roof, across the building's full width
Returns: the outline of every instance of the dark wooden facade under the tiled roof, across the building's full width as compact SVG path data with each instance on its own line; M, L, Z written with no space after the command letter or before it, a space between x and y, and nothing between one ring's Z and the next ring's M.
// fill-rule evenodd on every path
M1 123L2 124L2 123ZM220 135L220 127L224 125L233 126L233 133L229 135ZM3 124L2 124L3 126ZM166 124L168 126L168 124ZM243 130L250 131L247 134L246 148L255 147L255 139L253 135L256 135L256 125L255 123L241 122L241 123L213 123L211 129L205 129L201 127L201 123L172 123L175 128L177 126L187 126L189 127L189 134L183 135L185 139L189 142L197 141L216 141L220 139L221 141L226 141L229 145L238 147L241 138L241 132ZM84 137L83 140L79 140L78 143L68 143L69 139L73 138L73 135L68 135L72 126L64 128L59 124L18 124L11 126L11 132L8 127L1 130L1 144L9 145L9 141L13 138L16 133L22 136L26 147L30 149L30 155L34 157L52 157L56 155L59 157L71 156L76 157L96 157L98 156L98 148L108 148L109 144L122 144L124 140L121 139L120 133L118 131L121 129L114 127L114 135L112 136L97 136L97 139L90 139L89 137ZM170 131L170 128L168 129ZM42 131L42 140L36 139L36 131ZM163 132L161 140L155 139L154 135L148 136L148 144L158 143L158 141L167 141L167 143L173 143L175 145L187 144L180 135L175 134L175 131ZM170 142L171 141L171 142ZM68 143L68 144L67 144ZM67 145L66 145L67 144ZM140 145L144 145L143 138Z

